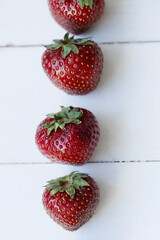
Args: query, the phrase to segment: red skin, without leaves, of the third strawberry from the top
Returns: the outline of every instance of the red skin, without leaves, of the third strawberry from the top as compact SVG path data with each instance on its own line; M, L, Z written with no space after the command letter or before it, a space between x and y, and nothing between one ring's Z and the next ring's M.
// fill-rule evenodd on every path
M100 129L95 116L88 110L83 111L81 124L66 124L65 130L54 130L47 136L44 119L37 127L35 142L40 152L52 162L82 165L92 156L100 137Z

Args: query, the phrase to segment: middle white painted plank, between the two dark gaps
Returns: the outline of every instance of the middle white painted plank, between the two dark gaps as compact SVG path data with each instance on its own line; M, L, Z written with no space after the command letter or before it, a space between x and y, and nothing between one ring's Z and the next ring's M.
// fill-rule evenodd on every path
M34 134L45 115L62 105L96 115L101 138L92 161L160 159L160 44L103 45L103 77L86 96L51 84L41 68L43 50L0 50L0 162L47 162Z

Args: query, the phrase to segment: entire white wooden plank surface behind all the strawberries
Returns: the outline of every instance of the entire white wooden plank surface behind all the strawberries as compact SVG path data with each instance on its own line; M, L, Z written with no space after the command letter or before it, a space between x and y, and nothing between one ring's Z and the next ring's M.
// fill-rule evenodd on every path
M160 1L106 1L83 35L100 43L105 59L98 88L86 96L66 95L42 71L39 45L65 33L46 2L0 0L0 239L159 240ZM73 104L97 116L99 145L82 167L49 164L35 146L36 126ZM70 233L46 215L41 195L47 180L73 170L95 178L101 202Z

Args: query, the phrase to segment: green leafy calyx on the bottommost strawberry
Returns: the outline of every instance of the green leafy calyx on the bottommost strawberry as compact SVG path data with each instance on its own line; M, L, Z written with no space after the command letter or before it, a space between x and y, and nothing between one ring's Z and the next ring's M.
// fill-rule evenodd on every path
M55 195L57 192L66 192L71 198L74 197L76 189L80 187L90 186L84 179L88 175L80 172L71 172L69 175L47 181L45 189L50 191L50 196Z

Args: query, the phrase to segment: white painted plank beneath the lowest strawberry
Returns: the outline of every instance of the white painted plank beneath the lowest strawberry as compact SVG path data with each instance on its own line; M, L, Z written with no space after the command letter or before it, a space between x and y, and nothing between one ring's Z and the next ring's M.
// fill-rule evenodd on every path
M101 201L88 223L68 232L48 217L41 196L47 180L73 170L96 180ZM159 240L159 172L159 163L0 166L0 238Z

